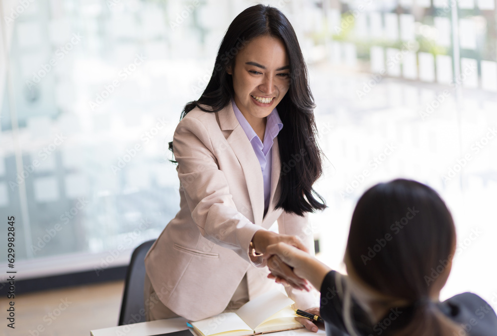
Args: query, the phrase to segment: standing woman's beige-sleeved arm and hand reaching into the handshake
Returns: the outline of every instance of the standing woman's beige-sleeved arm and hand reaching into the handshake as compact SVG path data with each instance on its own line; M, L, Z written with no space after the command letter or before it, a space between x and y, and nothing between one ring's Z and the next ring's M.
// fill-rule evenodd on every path
M254 266L257 264L249 255L251 241L260 253L267 245L280 241L306 249L298 237L270 232L250 222L237 209L225 172L218 166L216 153L220 147L212 143L211 134L201 121L183 118L173 142L182 191L191 216L206 239L235 251ZM303 279L294 282L302 289L306 283Z

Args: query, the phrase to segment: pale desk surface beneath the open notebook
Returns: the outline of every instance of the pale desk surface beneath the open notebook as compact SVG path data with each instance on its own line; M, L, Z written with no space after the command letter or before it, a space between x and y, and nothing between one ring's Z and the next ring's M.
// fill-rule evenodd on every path
M90 336L152 336L189 329L182 317L152 322L142 322L127 326L111 327L90 331ZM193 334L192 334L193 335ZM285 332L266 334L270 336L326 336L325 327L320 325L317 333L307 329L296 329Z

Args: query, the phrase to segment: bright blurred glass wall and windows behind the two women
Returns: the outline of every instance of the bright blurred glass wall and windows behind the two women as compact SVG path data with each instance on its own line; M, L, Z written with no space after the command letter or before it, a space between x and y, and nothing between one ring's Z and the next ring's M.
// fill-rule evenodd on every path
M0 3L0 279L8 216L18 281L115 279L179 209L167 142L228 25L256 2ZM412 178L457 226L441 299L497 303L496 0L263 3L287 15L309 67L326 155L316 189L329 206L311 216L319 258L343 270L358 197ZM60 286L82 282L68 279Z

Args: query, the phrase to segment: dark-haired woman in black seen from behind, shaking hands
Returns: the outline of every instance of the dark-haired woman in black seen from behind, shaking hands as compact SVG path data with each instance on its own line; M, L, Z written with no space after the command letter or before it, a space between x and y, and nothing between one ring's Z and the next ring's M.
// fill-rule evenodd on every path
M455 249L454 222L439 195L400 179L372 187L357 202L347 276L283 243L267 247L264 257L278 256L321 289L328 335L496 336L496 313L478 295L439 302ZM268 266L279 274L278 263Z

